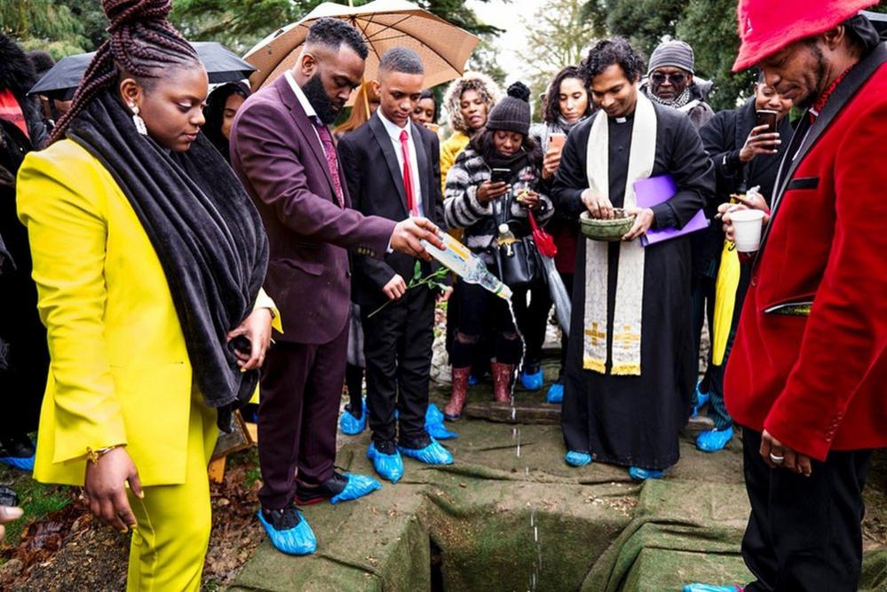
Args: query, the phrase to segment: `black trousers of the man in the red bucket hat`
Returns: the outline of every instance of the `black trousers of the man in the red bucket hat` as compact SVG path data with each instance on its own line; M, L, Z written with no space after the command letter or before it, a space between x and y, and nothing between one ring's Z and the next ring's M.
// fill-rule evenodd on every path
M761 434L745 428L742 449L751 516L742 557L756 581L745 589L855 592L862 568L862 490L870 450L832 452L805 478L771 469Z

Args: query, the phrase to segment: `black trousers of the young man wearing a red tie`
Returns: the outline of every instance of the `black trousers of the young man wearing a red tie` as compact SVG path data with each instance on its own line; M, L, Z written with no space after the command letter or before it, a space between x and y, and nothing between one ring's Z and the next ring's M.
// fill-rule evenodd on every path
M425 411L434 341L434 298L428 288L408 290L369 317L361 307L363 355L367 359L367 407L373 441L427 446ZM394 409L398 424L394 422Z

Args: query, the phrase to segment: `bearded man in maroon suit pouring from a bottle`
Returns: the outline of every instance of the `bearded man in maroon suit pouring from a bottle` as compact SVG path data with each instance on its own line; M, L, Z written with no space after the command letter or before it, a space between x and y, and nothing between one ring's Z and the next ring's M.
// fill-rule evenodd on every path
M231 164L265 222L265 288L283 322L262 375L258 517L274 546L295 555L316 548L297 503L353 500L381 486L333 468L348 339L348 251L427 258L422 239L441 245L427 219L394 223L351 209L327 126L360 84L367 52L351 25L316 21L296 66L249 97L232 126Z

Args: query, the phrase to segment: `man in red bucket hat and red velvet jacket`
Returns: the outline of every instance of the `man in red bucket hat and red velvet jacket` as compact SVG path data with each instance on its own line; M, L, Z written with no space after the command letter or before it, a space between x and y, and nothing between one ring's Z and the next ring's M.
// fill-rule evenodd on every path
M737 11L733 70L760 67L807 108L725 376L744 427L749 592L859 588L862 489L872 449L887 446L887 44L857 14L872 4L740 0ZM698 586L685 590L738 589Z

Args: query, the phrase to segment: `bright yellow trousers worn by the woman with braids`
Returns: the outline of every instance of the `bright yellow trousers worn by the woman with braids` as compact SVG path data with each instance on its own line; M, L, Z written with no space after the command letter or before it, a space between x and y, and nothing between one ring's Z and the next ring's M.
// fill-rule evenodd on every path
M145 487L142 500L130 493L138 526L130 545L128 592L200 590L212 527L207 465L218 428L216 411L198 399L191 404L185 483Z

